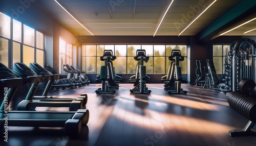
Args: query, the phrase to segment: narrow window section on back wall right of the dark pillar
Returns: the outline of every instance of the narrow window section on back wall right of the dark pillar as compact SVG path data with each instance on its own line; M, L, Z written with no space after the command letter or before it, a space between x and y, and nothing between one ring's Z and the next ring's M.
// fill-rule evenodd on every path
M228 63L227 54L230 51L229 45L214 45L213 61L217 74L224 74L225 63Z

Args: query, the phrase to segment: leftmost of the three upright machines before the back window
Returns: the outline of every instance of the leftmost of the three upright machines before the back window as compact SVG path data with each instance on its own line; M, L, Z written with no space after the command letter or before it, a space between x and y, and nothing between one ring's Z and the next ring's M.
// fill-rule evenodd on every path
M119 89L112 62L115 59L116 56L113 56L112 50L104 50L103 56L100 57L100 60L104 61L104 65L100 67L100 76L97 77L101 80L101 88L95 90L96 94L114 94Z

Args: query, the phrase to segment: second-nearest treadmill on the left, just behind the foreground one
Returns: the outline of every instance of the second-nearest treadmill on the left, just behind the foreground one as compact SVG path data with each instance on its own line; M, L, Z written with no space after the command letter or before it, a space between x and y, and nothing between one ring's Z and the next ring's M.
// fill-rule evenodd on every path
M24 63L14 63L13 64L13 74L18 78L23 78L26 80L28 77L36 76L35 72L32 71ZM17 110L30 110L35 109L36 107L69 107L70 111L77 111L78 109L83 108L83 101L86 99L85 96L80 96L81 98L77 99L53 99L47 98L47 96L41 96L34 98L34 93L39 85L42 82L50 82L52 80L58 79L58 75L47 75L42 73L41 82L32 83L26 99L20 102L17 106ZM29 84L29 82L23 83L23 85Z

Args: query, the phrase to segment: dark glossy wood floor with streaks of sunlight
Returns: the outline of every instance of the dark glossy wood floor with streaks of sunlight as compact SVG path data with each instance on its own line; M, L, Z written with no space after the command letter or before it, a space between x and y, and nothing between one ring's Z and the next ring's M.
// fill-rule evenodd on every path
M187 95L168 95L163 84L147 84L150 95L130 94L133 84L120 84L114 95L96 95L98 87L90 84L50 92L73 98L88 94L90 120L77 139L66 136L63 128L10 127L8 142L1 140L0 145L256 144L256 137L228 136L228 131L242 129L248 122L228 106L228 93L182 84ZM37 110L47 109L66 110Z

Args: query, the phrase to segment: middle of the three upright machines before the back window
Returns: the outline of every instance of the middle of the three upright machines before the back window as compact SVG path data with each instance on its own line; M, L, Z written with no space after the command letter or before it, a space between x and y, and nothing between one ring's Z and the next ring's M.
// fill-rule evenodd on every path
M137 65L137 73L135 77L134 88L130 89L131 93L150 94L151 90L146 87L146 66L143 65L144 61L147 62L150 57L146 56L145 50L137 50L135 60L139 61Z

